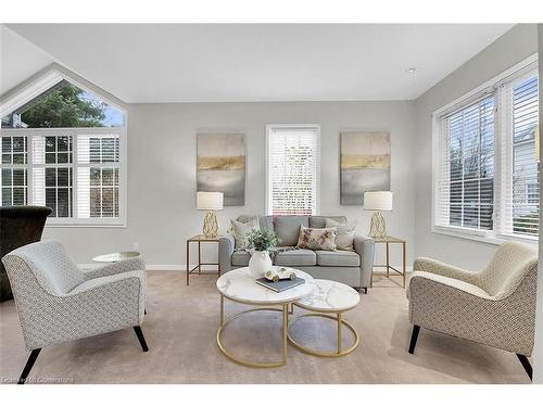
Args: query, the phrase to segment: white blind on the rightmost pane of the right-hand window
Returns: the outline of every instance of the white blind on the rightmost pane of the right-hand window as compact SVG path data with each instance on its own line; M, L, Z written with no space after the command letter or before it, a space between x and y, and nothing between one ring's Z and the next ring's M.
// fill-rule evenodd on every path
M539 123L538 77L523 76L502 87L502 149L505 175L502 232L539 234L539 170L535 130Z

